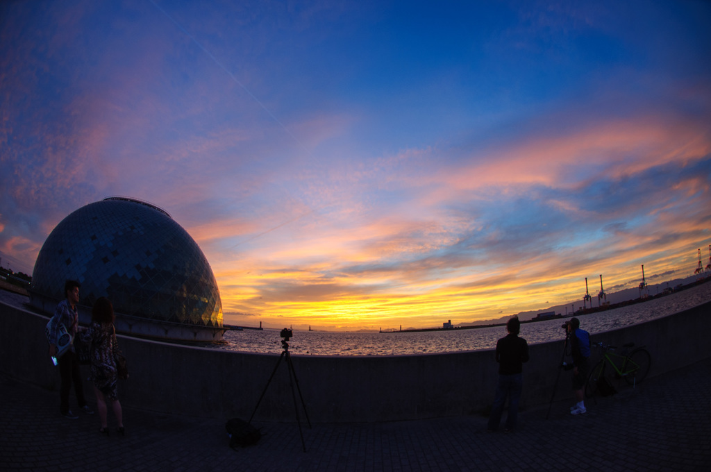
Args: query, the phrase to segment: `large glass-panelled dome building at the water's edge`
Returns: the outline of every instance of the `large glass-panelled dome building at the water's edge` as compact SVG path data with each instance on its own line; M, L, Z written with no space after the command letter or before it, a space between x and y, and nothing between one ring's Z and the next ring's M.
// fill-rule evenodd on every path
M118 332L222 340L222 303L210 264L188 232L149 203L110 197L64 218L38 254L30 303L53 313L68 279L81 284L82 323L106 296Z

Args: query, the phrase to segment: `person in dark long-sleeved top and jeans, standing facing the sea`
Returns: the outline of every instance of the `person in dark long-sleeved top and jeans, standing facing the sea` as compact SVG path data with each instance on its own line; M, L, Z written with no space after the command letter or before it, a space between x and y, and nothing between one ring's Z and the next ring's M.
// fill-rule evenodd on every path
M523 390L523 363L528 362L528 343L518 337L521 323L514 316L506 323L508 335L496 343L496 362L498 362L498 385L488 420L488 431L493 432L501 422L503 405L508 397L508 416L506 429L509 433L516 427L518 419L518 400Z

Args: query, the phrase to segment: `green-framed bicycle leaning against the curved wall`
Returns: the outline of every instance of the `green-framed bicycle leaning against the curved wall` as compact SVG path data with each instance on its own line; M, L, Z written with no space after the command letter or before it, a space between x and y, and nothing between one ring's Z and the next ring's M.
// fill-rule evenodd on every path
M585 397L609 395L609 392L602 390L607 387L614 388L611 380L619 382L620 379L624 379L634 388L649 373L652 356L644 346L640 346L628 354L627 351L634 348L634 343L623 345L624 351L622 353L614 352L617 349L614 345L604 345L603 343L594 343L593 345L602 348L604 352L602 359L590 370L590 375L585 383Z

